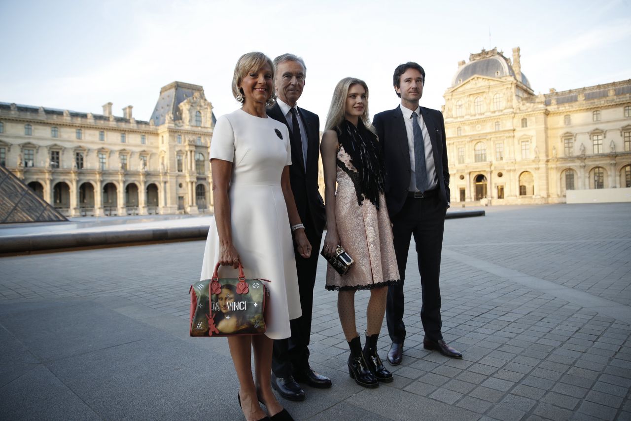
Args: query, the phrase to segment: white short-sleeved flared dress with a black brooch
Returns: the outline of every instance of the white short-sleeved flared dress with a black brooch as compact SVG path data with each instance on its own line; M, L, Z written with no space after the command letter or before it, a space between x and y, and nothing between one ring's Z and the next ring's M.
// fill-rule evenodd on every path
M230 161L232 178L230 223L232 243L245 278L269 279L266 335L291 336L290 319L302 315L292 231L280 180L292 164L287 127L272 118L259 118L241 109L217 119L210 159ZM208 230L201 280L209 279L219 257L215 219ZM219 276L237 278L238 271L221 266Z

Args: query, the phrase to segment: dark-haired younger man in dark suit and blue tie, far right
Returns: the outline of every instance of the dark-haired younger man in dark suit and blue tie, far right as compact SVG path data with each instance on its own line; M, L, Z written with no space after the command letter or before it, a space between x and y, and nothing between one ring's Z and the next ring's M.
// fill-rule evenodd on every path
M423 347L462 358L459 351L445 343L440 331L440 255L445 212L450 204L444 119L440 111L418 105L425 84L421 66L401 64L394 70L392 82L401 105L376 114L373 122L384 156L386 203L401 274L401 282L388 289L386 319L392 346L387 358L392 365L403 358L403 282L411 236L421 275Z

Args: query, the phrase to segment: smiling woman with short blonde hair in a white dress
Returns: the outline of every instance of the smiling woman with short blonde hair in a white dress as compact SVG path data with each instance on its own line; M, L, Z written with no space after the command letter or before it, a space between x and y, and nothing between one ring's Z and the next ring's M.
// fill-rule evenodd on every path
M223 265L221 277L236 278L235 269L241 262L246 278L271 281L266 333L228 337L228 345L239 377L239 404L245 419L281 421L293 418L271 389L273 339L288 338L289 320L302 315L293 241L305 258L311 245L290 186L288 130L266 114L266 103L273 101L273 80L274 65L265 54L250 52L237 61L232 92L243 106L221 116L213 131L210 159L215 218L206 240L201 279L211 278L217 262Z

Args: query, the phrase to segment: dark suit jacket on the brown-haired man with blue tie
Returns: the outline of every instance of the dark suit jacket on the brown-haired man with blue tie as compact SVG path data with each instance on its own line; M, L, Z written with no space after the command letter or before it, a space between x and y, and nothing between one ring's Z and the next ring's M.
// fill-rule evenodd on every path
M432 141L432 153L438 178L439 198L449 205L449 166L447 166L447 142L445 121L440 111L421 107L421 115ZM379 143L386 167L386 204L390 216L403 208L410 186L410 148L405 130L403 113L396 107L375 114L372 124L377 129Z

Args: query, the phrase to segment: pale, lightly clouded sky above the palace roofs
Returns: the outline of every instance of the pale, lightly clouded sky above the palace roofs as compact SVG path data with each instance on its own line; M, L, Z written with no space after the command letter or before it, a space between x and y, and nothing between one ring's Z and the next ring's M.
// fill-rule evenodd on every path
M535 93L631 78L629 1L0 1L0 101L148 120L160 88L203 85L215 114L238 107L230 82L244 52L298 54L298 104L322 125L333 87L363 78L370 114L394 108L392 71L427 72L422 105L440 109L459 60L512 56ZM489 31L491 39L489 41Z

